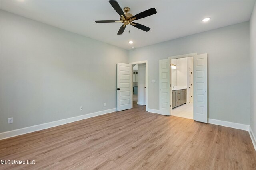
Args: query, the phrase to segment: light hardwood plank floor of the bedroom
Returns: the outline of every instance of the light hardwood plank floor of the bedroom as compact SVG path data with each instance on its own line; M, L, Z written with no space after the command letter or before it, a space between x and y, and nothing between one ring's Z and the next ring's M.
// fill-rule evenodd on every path
M0 141L0 169L255 170L247 131L145 112L145 106Z

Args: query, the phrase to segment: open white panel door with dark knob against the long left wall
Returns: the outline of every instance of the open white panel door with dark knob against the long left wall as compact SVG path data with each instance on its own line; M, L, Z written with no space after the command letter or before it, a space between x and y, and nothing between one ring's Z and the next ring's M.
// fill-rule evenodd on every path
M132 108L132 64L117 63L117 111Z

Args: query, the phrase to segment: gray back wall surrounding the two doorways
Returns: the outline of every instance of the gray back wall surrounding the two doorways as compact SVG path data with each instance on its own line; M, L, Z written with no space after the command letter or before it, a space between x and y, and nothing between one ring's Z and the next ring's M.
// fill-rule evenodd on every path
M159 60L194 52L208 54L208 118L248 125L249 22L130 50L129 62L148 60L148 108L159 109Z

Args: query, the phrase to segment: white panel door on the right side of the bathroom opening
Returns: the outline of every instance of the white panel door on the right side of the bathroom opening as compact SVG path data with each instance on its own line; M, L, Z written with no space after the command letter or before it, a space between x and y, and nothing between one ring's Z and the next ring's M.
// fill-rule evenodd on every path
M207 123L207 54L194 56L194 120Z

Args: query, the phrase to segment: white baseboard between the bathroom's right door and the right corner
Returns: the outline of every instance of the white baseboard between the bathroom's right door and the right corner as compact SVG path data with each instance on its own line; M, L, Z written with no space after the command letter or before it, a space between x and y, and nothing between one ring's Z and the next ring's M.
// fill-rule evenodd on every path
M225 126L225 127L232 127L232 128L235 128L235 129L241 129L241 130L245 130L245 131L249 130L249 125L244 125L244 124L240 124L240 123L233 123L233 122L229 122L229 121L208 119L208 123L214 124L214 125Z

